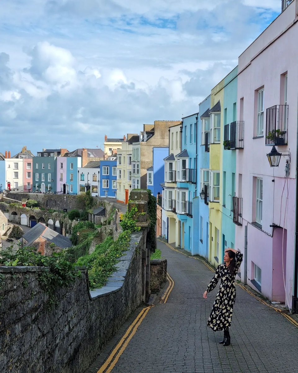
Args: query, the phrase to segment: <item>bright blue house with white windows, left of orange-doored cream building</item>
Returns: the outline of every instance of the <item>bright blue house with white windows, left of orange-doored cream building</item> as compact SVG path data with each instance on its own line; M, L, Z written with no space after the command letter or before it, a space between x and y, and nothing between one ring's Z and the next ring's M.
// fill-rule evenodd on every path
M100 197L116 198L117 192L117 173L113 172L112 167L117 167L117 160L104 160L100 162ZM115 175L113 175L113 173Z

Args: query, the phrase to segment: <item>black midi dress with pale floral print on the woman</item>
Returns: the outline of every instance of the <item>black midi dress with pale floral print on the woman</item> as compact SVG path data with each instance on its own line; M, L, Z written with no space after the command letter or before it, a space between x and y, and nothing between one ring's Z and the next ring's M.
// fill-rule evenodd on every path
M225 263L219 264L207 292L212 291L221 279L221 285L216 295L207 325L213 330L228 330L232 322L233 307L236 299L235 277L243 259L240 251L235 253L236 271L231 275Z

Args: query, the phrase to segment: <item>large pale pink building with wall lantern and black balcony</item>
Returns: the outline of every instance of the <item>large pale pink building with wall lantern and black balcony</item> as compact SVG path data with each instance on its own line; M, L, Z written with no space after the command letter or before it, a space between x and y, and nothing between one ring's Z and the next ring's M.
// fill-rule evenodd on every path
M289 308L295 295L297 14L294 0L241 54L237 98L237 118L244 120L244 149L236 166L243 225L236 227L235 244L247 254L241 279ZM288 156L270 167L266 154L273 145L283 155L291 152L289 173Z

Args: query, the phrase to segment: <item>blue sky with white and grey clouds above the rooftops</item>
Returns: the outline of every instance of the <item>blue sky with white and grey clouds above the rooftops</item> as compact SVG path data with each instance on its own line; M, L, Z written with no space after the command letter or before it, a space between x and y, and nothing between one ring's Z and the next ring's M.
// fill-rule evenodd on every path
M104 135L198 112L280 9L281 0L1 0L0 152L103 148Z

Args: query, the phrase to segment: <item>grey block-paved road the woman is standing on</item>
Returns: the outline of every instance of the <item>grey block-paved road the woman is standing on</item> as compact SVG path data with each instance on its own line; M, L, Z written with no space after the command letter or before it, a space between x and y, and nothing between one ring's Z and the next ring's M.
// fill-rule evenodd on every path
M151 308L112 373L297 373L298 329L237 286L231 345L207 328L216 291L202 295L213 273L199 260L158 241L175 281L166 304ZM96 373L137 310L85 373Z

